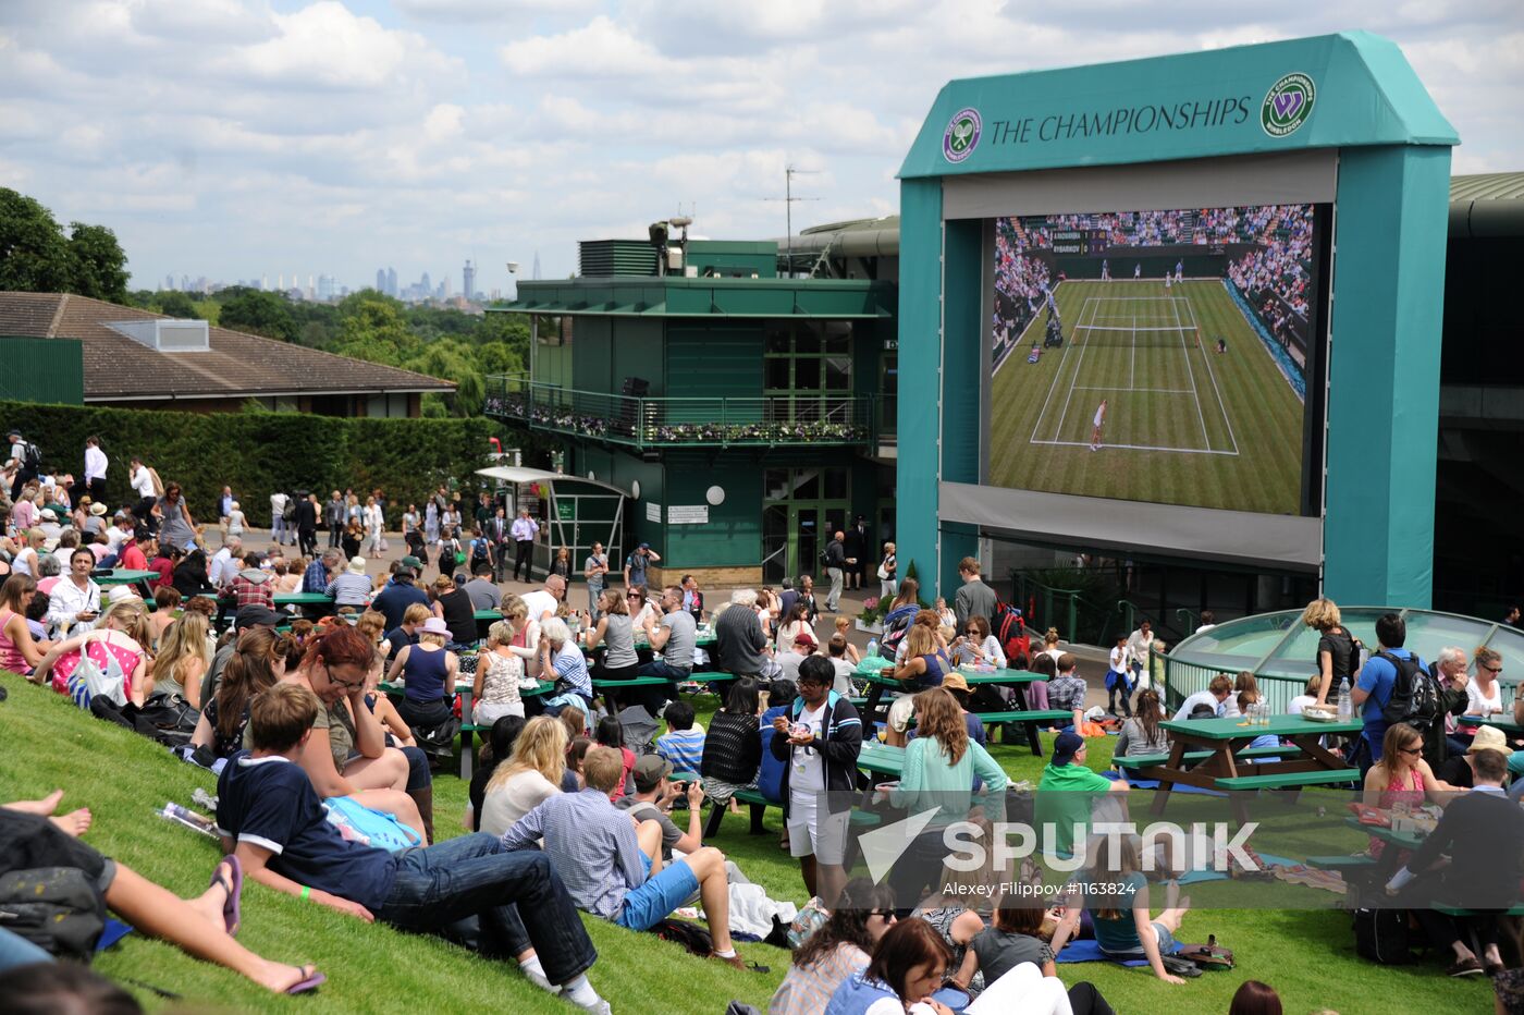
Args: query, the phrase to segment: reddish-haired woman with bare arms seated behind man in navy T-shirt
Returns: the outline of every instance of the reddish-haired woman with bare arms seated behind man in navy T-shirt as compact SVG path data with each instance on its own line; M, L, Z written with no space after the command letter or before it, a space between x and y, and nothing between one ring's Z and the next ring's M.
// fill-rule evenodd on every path
M434 785L427 759L415 771L407 754L386 745L381 721L366 707L375 651L364 634L340 623L308 642L302 661L287 672L285 680L305 684L323 704L299 760L319 799L355 797L433 840Z

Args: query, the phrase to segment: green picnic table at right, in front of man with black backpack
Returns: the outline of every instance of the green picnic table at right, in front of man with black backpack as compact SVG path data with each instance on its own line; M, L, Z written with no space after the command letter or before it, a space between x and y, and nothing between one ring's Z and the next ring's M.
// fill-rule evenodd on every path
M1202 789L1301 789L1303 786L1359 782L1359 770L1329 753L1324 736L1358 736L1364 724L1312 722L1298 715L1274 715L1268 725L1250 725L1247 719L1181 719L1158 724L1169 733L1169 760L1138 770L1140 779L1157 779L1154 814L1163 814L1175 785ZM1259 760L1244 751L1260 736L1289 739L1298 748L1279 760ZM1186 768L1189 751L1210 751L1205 760ZM1244 799L1233 796L1233 811L1239 823L1248 820Z

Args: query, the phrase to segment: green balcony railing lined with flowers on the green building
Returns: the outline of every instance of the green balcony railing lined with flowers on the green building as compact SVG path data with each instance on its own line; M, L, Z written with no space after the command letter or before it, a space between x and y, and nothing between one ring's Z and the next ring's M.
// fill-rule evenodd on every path
M486 411L532 430L593 437L637 448L674 445L870 443L872 395L639 398L530 381L486 378Z

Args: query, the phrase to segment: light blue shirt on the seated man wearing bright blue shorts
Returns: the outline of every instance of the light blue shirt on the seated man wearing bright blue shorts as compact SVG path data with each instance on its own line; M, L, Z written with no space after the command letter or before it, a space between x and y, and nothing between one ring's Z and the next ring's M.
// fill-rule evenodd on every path
M503 834L503 847L532 849L539 838L572 901L593 916L619 917L625 893L646 882L636 826L607 792L549 797Z

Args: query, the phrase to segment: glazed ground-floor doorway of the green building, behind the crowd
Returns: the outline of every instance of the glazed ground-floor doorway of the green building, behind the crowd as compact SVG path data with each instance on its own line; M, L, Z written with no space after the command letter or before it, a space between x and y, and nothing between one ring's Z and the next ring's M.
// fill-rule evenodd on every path
M820 578L831 533L852 511L852 469L841 465L770 468L762 504L762 579Z

